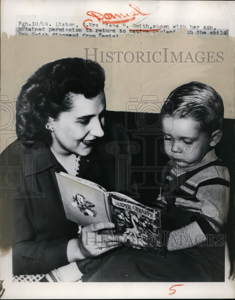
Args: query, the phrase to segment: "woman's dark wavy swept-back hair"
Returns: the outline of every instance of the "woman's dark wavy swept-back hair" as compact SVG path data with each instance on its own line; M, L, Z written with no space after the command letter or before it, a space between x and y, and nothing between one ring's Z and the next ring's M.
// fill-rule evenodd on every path
M71 109L68 93L91 99L104 90L100 64L84 58L62 58L42 65L22 86L16 104L16 132L22 141L50 142L48 118Z

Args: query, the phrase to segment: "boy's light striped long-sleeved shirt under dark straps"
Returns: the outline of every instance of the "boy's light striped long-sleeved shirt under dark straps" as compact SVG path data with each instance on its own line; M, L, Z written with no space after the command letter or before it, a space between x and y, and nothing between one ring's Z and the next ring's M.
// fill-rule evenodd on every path
M205 235L208 233L208 229L211 228L218 233L226 222L230 177L227 167L218 160L214 149L207 152L205 157L193 166L182 168L174 164L166 176L166 180L170 182L170 187L175 187L179 182L179 176L186 178L187 173L210 162L214 162L215 165L200 170L186 181L182 180L180 186L174 190L174 205L182 210L197 213L199 218L170 232L167 240L168 250L200 245L202 241L206 240ZM159 195L158 199L159 197L161 196ZM164 201L162 197L161 200Z

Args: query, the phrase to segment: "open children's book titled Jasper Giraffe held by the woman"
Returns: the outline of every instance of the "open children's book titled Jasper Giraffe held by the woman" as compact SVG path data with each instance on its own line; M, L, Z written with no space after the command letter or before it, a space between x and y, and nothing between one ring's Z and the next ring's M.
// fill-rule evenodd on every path
M160 209L64 172L56 173L56 179L67 219L81 226L113 222L115 228L102 233L123 235L125 244L164 256Z

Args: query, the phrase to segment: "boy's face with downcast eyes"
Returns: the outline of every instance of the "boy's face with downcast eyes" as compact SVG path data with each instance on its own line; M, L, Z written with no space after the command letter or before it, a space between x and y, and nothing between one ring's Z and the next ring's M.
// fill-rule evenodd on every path
M177 165L181 167L194 165L201 161L209 150L211 138L198 128L199 122L191 118L163 119L164 148Z

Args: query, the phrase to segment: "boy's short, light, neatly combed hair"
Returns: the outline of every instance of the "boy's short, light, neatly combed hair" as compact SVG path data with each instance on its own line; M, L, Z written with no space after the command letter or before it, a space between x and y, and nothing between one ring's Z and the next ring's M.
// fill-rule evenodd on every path
M198 122L198 130L211 134L220 129L224 104L221 96L211 86L193 81L174 89L161 109L161 116L192 118Z

